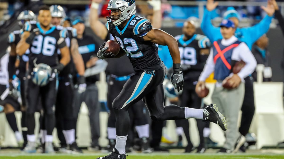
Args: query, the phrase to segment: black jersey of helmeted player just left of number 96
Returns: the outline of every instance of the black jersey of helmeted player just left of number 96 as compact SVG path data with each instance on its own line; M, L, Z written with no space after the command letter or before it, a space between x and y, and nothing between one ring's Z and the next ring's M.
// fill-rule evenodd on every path
M23 33L23 29L13 31L8 36L8 43L10 45L15 44L17 45L18 42L21 40L21 35ZM26 63L29 61L29 53L30 50L28 49L24 55L20 56L20 65L19 65L19 73L17 74L18 78L23 78L26 75Z

